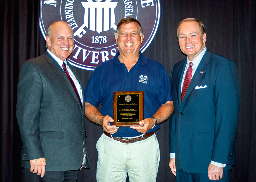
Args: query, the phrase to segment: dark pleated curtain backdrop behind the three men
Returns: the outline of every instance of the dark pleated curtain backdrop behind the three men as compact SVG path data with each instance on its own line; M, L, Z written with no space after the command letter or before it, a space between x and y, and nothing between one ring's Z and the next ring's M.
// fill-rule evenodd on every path
M38 26L39 0L0 0L1 2L1 181L24 181L20 167L22 142L16 121L18 74L23 63L42 55L45 41ZM255 0L160 0L161 20L151 45L143 53L156 59L171 73L183 59L176 37L178 23L188 17L201 20L206 28L206 46L210 51L234 61L237 66L241 106L236 135L236 162L231 171L233 182L255 182L256 173L256 14ZM91 71L77 69L83 86ZM223 80L225 82L225 80ZM53 113L54 114L54 113ZM78 172L78 182L96 181L96 141L102 129L87 122L86 147L90 169ZM158 182L175 181L169 169L169 122L157 131L161 160ZM195 164L196 165L196 164Z

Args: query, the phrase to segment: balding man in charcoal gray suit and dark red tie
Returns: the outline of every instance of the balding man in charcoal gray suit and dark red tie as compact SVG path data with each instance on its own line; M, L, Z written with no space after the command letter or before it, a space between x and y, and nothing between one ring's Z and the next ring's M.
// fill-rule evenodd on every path
M23 141L26 181L76 181L88 168L85 149L84 93L66 59L73 31L66 22L47 29L47 51L26 61L20 71L17 121Z

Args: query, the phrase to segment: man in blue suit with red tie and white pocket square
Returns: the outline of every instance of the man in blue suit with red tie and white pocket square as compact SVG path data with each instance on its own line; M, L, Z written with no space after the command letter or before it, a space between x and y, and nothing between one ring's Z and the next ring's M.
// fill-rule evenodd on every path
M181 21L177 36L187 58L171 72L169 166L177 182L229 181L240 106L236 66L205 47L199 20Z

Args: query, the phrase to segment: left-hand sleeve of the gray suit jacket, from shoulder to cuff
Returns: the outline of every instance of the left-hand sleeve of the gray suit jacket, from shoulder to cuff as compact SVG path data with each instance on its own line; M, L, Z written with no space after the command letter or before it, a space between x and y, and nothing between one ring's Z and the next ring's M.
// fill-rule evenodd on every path
M17 121L24 147L23 160L44 157L40 140L39 120L43 98L43 83L39 71L25 62L19 75L17 91Z

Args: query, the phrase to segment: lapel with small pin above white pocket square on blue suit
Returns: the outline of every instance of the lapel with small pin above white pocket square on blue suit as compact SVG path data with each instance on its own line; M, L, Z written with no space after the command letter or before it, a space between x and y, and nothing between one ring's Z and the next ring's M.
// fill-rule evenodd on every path
M186 98L189 96L191 91L193 91L193 89L195 88L196 84L199 82L201 77L205 74L205 72L208 68L210 55L211 55L211 52L207 49L206 52L205 52L205 55L202 57L202 60L200 61L199 65L197 66L197 69L195 71L195 74L194 74L193 78L191 79L190 84L188 85L188 89L185 93L183 101L186 100Z

